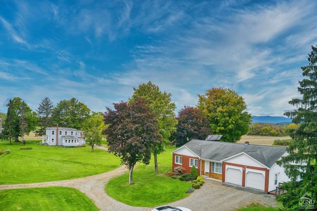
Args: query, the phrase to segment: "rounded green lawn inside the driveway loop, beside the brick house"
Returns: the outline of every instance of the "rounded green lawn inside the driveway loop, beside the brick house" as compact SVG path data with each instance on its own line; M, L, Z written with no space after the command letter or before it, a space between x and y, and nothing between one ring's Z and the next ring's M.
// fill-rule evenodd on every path
M155 175L154 159L149 165L139 163L133 170L134 184L128 185L129 172L112 178L106 185L106 193L124 204L135 207L156 207L183 199L189 194L185 191L191 187L190 182L183 182L164 176L164 172L172 170L172 154L174 149L158 155L159 175Z

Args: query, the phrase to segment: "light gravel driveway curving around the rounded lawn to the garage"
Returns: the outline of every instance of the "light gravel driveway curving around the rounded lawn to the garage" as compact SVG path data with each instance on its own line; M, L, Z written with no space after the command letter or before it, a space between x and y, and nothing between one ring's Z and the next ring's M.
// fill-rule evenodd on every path
M30 184L0 185L1 190L18 188L35 188L48 186L63 186L76 188L91 198L101 211L150 211L153 208L131 207L120 203L105 193L105 185L109 179L119 176L128 169L123 165L113 171L103 174L52 182ZM275 196L264 194L255 189L242 188L234 185L205 179L201 189L195 190L185 199L168 205L187 207L192 211L233 211L243 206L262 204L276 207Z

